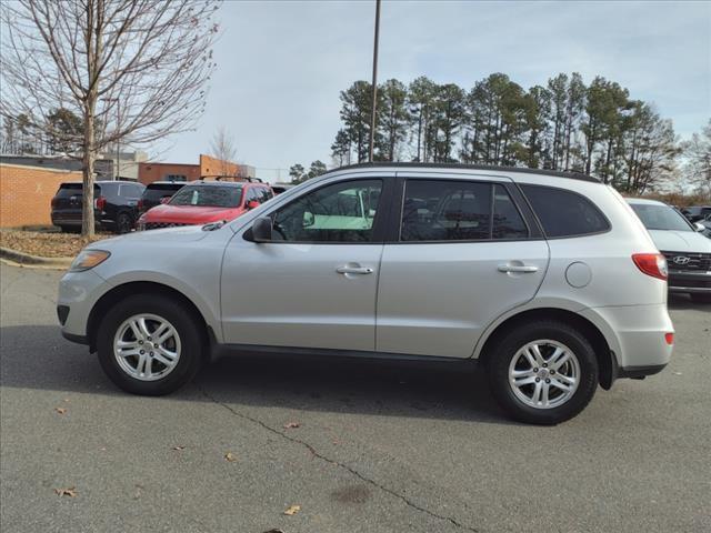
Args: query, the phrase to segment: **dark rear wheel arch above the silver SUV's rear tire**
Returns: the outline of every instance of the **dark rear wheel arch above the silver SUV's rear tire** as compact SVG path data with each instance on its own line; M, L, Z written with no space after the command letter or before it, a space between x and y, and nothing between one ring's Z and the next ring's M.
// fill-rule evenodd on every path
M505 318L504 320L492 326L489 330L485 339L479 342L477 351L474 352L474 356L478 356L483 363L485 363L487 359L492 356L494 346L503 336L505 336L509 331L515 329L517 325L523 322L530 322L534 320L557 320L567 324L572 324L578 330L580 330L592 345L595 358L598 359L600 385L605 390L612 386L612 383L617 378L618 364L614 351L610 346L610 343L608 342L605 335L593 322L580 315L579 313L567 309L528 309L525 311L521 311Z

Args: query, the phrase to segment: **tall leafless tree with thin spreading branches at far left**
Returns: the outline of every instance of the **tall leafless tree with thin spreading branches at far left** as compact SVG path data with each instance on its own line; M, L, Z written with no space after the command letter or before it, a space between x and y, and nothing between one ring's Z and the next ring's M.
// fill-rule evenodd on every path
M194 127L214 68L218 0L1 2L0 115L79 147L82 234L93 237L93 167L110 144L142 144ZM52 128L66 109L81 135Z

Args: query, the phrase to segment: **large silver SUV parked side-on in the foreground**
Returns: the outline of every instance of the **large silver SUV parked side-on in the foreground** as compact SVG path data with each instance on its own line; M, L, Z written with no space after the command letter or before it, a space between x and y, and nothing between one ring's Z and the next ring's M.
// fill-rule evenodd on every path
M661 371L667 262L624 200L581 174L364 164L220 224L83 250L62 334L159 395L234 352L483 363L515 419L557 423L598 384Z

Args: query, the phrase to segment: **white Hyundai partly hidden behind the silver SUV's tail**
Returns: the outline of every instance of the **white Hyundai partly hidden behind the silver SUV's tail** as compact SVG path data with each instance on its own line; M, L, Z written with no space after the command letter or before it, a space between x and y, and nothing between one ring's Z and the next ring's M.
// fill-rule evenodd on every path
M669 290L711 303L711 240L699 222L690 222L671 205L655 200L628 199L669 264Z

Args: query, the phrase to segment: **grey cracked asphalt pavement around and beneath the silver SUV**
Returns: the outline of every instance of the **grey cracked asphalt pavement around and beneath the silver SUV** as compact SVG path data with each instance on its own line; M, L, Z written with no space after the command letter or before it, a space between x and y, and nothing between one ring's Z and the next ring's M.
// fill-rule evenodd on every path
M664 372L537 428L479 376L363 363L222 358L130 396L60 336L60 275L0 266L4 533L711 531L711 306L674 298Z

